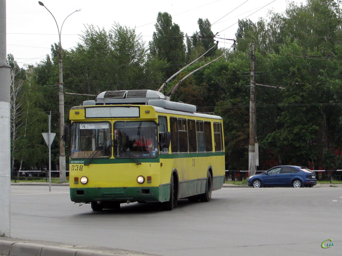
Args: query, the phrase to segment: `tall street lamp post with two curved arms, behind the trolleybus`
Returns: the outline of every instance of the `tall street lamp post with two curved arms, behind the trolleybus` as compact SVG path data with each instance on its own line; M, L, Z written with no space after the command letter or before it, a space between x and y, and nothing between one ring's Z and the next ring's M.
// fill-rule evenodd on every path
M63 28L63 24L65 22L65 20L73 13L75 12L79 12L81 11L81 9L76 10L72 13L70 13L63 21L62 26L61 26L61 30L58 27L57 21L55 19L55 17L53 16L53 14L49 11L48 8L46 8L46 6L38 1L38 3L41 6L44 6L45 9L48 10L48 12L52 15L53 19L55 20L55 23L57 25L57 29L58 29L58 36L59 36L59 42L58 42L58 50L59 50L59 54L58 54L58 63L59 63L59 92L58 92L58 101L59 101L59 111L60 111L60 182L65 182L66 181L66 166L65 166L65 150L64 150L64 145L63 145L63 141L62 141L62 136L63 136L63 127L64 127L64 92L63 92L63 55L62 55L62 44L61 44L61 34L62 34L62 28Z

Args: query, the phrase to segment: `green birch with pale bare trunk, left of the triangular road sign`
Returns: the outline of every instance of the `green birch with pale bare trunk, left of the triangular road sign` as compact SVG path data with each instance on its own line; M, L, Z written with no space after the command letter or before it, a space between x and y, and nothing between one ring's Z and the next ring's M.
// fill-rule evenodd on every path
M34 68L19 71L12 55L11 65L11 170L46 165L46 148L41 132L45 114L40 108L42 95L35 82ZM25 79L19 78L19 73ZM34 156L34 157L32 157Z

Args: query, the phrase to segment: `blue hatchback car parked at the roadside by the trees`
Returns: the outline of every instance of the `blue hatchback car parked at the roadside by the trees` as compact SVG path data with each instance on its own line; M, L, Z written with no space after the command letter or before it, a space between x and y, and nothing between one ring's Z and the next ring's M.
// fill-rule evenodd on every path
M317 184L315 172L300 166L277 166L263 173L252 175L248 186L252 187L312 187Z

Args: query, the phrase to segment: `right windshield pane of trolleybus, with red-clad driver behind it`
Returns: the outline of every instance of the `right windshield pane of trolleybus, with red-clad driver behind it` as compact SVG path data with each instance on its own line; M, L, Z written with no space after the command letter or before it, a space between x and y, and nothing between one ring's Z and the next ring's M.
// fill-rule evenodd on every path
M114 123L114 156L142 158L158 156L158 129L153 121Z

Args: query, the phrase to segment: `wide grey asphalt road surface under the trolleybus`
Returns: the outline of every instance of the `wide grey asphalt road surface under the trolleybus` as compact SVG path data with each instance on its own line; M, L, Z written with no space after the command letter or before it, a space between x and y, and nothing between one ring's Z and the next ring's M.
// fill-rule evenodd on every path
M11 186L11 237L156 255L341 255L342 188L222 188L210 202L93 212L69 188ZM334 245L322 248L324 240ZM326 246L326 245L325 245Z

